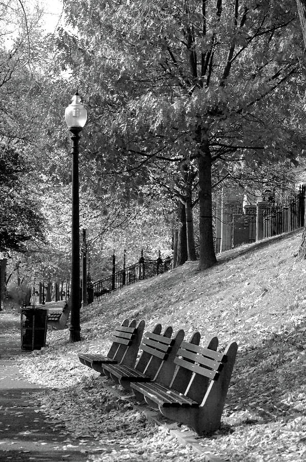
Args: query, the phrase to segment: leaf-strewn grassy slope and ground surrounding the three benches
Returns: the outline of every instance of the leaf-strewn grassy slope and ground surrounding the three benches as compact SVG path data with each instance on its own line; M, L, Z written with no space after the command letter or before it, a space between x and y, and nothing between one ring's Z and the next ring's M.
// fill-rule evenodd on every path
M306 458L306 264L296 261L301 233L222 254L204 272L196 263L126 287L86 307L83 341L48 331L48 347L21 361L24 374L44 385L45 412L78 441L98 443L88 460L301 462ZM129 399L103 387L78 351L105 353L114 325L144 319L150 330L218 335L221 349L239 344L221 429L198 438L203 454L183 447L166 428L147 421ZM182 428L184 430L184 427ZM99 446L100 445L100 446ZM211 457L211 458L210 458Z

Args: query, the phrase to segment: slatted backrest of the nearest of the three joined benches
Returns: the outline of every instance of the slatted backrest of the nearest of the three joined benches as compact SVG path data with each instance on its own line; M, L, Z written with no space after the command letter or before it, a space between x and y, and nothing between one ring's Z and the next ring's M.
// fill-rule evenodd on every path
M227 357L223 353L183 341L174 362L180 369L189 371L191 375L185 391L181 392L201 402L209 382L218 380L226 361ZM170 388L172 385L173 383L170 383Z

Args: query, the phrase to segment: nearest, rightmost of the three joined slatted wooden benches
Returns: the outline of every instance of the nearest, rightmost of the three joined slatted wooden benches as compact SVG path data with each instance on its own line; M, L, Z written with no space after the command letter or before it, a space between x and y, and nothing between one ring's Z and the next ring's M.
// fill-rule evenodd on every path
M199 435L209 434L220 427L236 354L236 342L219 353L183 341L168 387L154 381L131 383L131 388L137 399L144 398L165 417L192 427Z

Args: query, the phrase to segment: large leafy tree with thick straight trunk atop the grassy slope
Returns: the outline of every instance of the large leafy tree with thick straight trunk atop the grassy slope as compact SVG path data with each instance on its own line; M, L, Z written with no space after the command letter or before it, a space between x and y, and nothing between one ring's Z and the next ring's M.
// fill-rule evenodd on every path
M66 8L78 35L62 33L61 56L90 97L103 100L95 130L111 145L104 159L194 160L199 266L213 265L212 165L277 162L299 149L288 125L301 54L295 12L267 0L83 0Z

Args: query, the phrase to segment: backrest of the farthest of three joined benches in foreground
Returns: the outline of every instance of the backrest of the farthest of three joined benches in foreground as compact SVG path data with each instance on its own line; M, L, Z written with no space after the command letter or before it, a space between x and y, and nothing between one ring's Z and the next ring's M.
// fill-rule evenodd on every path
M116 326L113 332L112 345L107 357L116 359L118 362L124 361L126 365L132 367L136 362L143 330L144 321L140 321L137 325L136 319L132 319L131 322L124 319L122 324Z

